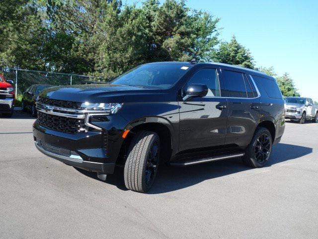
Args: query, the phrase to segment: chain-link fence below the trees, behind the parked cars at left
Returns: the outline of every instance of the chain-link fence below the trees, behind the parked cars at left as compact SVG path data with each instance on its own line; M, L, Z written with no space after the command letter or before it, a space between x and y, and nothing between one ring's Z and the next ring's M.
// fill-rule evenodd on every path
M103 79L99 77L11 68L0 68L0 73L3 74L6 80L11 80L15 83L16 95L22 94L34 84L65 86L103 82Z

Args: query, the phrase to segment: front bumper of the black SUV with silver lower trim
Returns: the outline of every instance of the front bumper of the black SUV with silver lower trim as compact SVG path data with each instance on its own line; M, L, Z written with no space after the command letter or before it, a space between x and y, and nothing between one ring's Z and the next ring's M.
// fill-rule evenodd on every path
M107 157L102 132L69 134L33 125L36 148L45 155L91 172L112 174L116 159Z

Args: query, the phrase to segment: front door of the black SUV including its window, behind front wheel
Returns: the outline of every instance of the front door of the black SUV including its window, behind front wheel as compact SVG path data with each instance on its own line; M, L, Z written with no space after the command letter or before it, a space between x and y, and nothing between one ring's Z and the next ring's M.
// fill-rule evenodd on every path
M225 142L228 103L220 95L220 71L215 68L201 68L182 88L190 84L204 84L208 87L205 97L180 101L179 151L209 149Z

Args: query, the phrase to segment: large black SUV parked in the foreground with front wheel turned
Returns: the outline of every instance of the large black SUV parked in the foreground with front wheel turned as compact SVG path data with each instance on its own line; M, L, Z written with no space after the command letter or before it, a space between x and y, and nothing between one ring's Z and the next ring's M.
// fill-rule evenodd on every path
M151 188L159 161L241 157L262 167L285 128L276 80L220 63L150 63L107 85L45 89L37 111L41 152L103 180L123 165L126 187L138 192Z

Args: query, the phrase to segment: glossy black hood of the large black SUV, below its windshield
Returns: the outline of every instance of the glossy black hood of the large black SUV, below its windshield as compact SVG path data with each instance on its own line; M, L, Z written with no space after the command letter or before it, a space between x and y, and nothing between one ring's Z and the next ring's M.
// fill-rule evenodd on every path
M144 101L155 98L164 99L161 89L148 89L134 86L98 84L51 87L41 92L41 97L55 100L90 102L90 103L124 103L127 101ZM133 99L132 99L133 98Z

